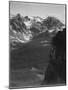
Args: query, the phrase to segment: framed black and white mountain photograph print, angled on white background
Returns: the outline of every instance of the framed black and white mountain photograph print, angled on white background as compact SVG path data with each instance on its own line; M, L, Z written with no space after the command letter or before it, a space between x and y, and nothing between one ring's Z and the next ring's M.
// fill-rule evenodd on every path
M9 88L66 85L66 4L9 1Z

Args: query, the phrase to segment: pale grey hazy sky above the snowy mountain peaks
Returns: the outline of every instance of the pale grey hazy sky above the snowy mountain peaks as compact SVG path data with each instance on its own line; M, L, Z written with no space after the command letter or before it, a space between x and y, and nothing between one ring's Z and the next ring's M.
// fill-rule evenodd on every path
M65 5L10 2L10 15L20 13L23 16L54 16L65 22Z

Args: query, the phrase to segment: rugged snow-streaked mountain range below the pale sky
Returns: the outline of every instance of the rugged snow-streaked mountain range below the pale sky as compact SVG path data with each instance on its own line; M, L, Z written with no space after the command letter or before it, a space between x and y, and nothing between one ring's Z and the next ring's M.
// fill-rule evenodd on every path
M27 43L41 36L45 39L44 33L53 36L58 31L62 30L64 24L54 17L47 17L45 19L32 16L21 16L17 14L10 18L10 42L13 45L17 43ZM42 36L44 35L44 37ZM38 36L38 37L37 37Z

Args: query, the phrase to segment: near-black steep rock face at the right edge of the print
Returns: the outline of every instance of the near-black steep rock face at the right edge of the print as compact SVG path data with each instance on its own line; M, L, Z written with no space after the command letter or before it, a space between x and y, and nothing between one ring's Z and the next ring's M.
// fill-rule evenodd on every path
M52 40L53 50L43 84L66 83L66 29Z

